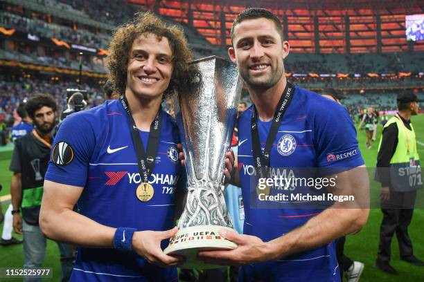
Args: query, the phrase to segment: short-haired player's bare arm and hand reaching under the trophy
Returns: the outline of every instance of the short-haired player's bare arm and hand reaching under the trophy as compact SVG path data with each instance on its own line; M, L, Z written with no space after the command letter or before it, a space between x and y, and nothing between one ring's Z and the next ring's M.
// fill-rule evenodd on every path
M355 202L336 202L333 206L308 220L291 232L263 242L256 236L236 234L222 230L221 235L238 245L231 251L200 252L206 263L242 265L279 259L289 254L326 245L336 238L357 232L368 218L369 180L364 166L337 174L333 194L352 195Z

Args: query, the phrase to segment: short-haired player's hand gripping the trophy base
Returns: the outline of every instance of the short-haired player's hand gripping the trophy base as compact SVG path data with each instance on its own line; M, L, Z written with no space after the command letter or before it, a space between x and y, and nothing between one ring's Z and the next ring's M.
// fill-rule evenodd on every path
M202 251L197 258L205 263L218 265L245 265L270 259L270 247L256 236L236 234L222 229L220 235L238 245L229 251Z

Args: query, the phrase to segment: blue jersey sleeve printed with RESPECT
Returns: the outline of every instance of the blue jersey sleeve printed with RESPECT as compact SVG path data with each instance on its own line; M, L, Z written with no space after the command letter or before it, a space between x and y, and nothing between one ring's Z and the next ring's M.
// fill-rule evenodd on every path
M364 164L356 138L356 129L343 106L323 102L314 120L317 167L338 172Z

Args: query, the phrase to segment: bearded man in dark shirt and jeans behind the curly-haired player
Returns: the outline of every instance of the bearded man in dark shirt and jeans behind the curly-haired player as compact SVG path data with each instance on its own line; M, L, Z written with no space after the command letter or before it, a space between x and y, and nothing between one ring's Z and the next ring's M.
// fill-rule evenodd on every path
M26 111L35 129L15 142L10 171L13 228L24 234L24 268L41 267L46 252L46 238L39 228L39 209L43 195L44 174L50 159L51 131L55 126L57 105L51 95L37 94L28 100ZM22 217L21 217L22 213ZM75 248L59 243L62 265L61 281L71 276ZM31 277L24 277L24 281Z

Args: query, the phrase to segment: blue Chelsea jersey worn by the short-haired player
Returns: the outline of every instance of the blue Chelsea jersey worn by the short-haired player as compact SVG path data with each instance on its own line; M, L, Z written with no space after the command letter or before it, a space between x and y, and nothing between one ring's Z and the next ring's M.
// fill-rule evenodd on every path
M252 106L242 113L238 122L238 169L245 203L244 233L263 241L278 238L300 227L323 209L252 208L251 182L254 178L254 158L251 144ZM262 149L272 121L258 119ZM342 156L342 157L339 157ZM337 169L338 172L364 164L358 149L355 127L346 110L317 93L296 87L270 153L270 168ZM256 187L256 186L255 186ZM243 266L242 281L339 281L339 265L335 243L317 247L276 261Z

